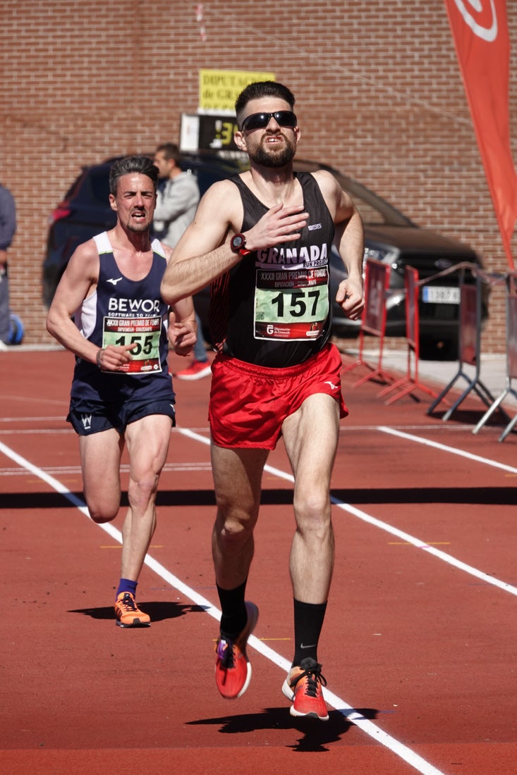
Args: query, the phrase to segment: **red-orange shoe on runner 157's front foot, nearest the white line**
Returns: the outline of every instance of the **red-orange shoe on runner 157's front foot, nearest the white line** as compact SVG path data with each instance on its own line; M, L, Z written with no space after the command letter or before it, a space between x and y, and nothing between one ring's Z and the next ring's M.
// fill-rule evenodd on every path
M310 656L301 661L300 667L292 667L282 687L286 698L293 700L290 714L328 722L327 706L321 691L321 687L326 685L327 681L321 675L321 665Z

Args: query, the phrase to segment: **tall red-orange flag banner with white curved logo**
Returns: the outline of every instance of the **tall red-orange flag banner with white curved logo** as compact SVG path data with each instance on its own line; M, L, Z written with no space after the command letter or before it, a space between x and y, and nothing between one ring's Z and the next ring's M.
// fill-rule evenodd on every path
M508 121L510 43L505 0L445 0L470 115L510 267L517 173Z

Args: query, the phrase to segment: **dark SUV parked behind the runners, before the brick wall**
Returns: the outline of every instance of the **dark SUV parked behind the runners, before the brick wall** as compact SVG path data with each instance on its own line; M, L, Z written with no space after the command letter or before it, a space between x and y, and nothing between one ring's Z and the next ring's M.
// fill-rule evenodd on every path
M109 207L109 168L115 159L83 167L71 188L50 218L47 255L43 261L43 301L48 306L71 254L94 234L111 229L116 214ZM200 191L214 182L247 168L239 157L186 154L182 167L196 175ZM419 301L421 353L436 350L445 357L456 356L459 312L459 278L457 273L435 277L440 271L462 262L481 267L481 259L470 247L437 232L415 226L405 215L373 194L362 184L340 172L307 160L294 160L296 171L328 170L356 202L365 227L365 258L389 263L390 296L387 301L387 336L405 336L404 269L411 265L424 281ZM346 276L345 267L336 251L331 254L331 294L335 298L338 284ZM429 284L425 280L429 279ZM467 281L472 277L467 275ZM196 310L208 334L209 293L196 294ZM488 315L488 291L483 301L483 317ZM355 336L360 322L345 318L342 309L333 305L333 333L339 337Z

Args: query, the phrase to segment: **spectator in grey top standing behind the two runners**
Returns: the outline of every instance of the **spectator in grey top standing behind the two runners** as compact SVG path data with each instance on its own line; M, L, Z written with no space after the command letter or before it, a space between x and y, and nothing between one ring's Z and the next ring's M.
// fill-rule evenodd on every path
M162 243L175 248L176 243L196 215L200 201L200 189L196 177L182 171L179 166L181 153L175 143L162 143L154 152L154 164L158 167L156 209L154 210L154 235ZM193 361L188 367L173 374L180 380L199 380L210 374L210 362L206 355L203 330L196 312L197 339Z

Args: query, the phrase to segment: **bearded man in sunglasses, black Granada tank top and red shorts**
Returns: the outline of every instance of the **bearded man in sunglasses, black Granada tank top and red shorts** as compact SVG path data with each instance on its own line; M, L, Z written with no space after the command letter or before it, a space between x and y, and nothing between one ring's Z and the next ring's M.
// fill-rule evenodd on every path
M249 84L241 93L234 139L248 153L250 170L206 191L161 293L171 303L213 283L212 546L222 610L217 687L225 698L240 697L251 677L246 643L259 611L245 601L245 587L262 470L283 436L297 526L290 553L295 645L283 694L293 702L292 715L325 721L317 644L334 560L331 469L339 417L346 414L341 356L328 343L328 257L334 239L348 270L337 301L358 319L363 225L330 173L293 174L300 139L293 107L290 90L273 81Z

